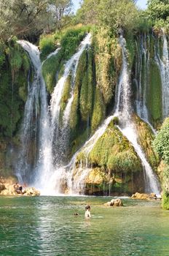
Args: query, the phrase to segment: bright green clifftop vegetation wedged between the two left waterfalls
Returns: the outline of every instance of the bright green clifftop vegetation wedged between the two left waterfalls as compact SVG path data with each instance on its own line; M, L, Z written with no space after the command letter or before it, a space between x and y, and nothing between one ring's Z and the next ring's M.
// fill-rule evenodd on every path
M57 82L57 74L59 79L63 74L63 64L76 53L79 43L84 38L87 29L87 27L82 26L75 27L74 29L66 29L55 35L41 37L39 44L42 50L42 59L45 59L52 50L55 50L58 43L60 44L58 53L44 61L42 66L42 75L47 86L47 91L49 91L50 94L52 94Z

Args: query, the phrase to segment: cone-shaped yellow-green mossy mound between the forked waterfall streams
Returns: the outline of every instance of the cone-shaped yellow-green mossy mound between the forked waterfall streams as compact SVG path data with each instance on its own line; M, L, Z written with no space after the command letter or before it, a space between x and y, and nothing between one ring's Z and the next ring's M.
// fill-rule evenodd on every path
M111 173L142 170L141 162L133 147L119 129L114 127L113 122L95 143L89 154L89 161L93 165L105 167Z

